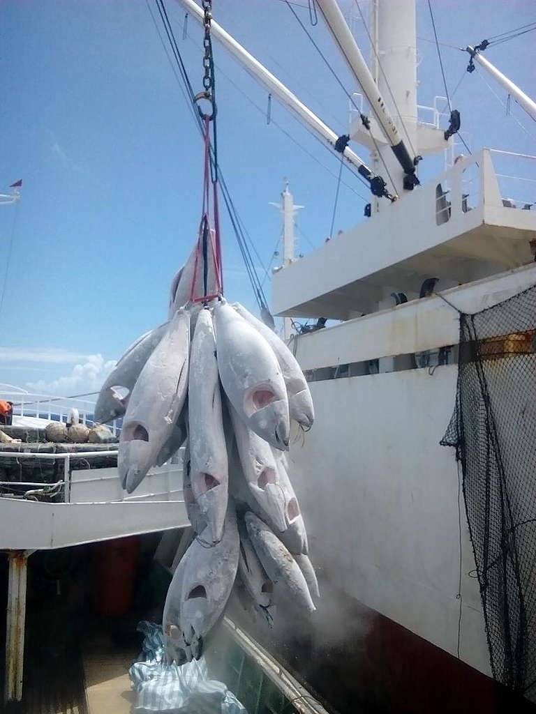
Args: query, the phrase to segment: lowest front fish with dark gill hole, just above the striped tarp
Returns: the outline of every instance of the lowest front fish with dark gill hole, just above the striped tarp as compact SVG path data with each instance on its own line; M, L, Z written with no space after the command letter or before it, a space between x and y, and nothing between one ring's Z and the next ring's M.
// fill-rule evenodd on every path
M223 613L237 575L239 535L232 500L222 540L207 547L209 535L205 529L184 554L180 625L184 643L196 659L204 638Z

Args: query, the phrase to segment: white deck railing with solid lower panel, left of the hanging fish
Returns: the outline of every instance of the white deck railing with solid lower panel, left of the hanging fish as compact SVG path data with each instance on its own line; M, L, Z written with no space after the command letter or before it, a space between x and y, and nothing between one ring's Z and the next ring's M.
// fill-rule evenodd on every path
M70 453L41 453L40 451L0 451L1 460L34 459L61 462L62 478L54 483L43 481L0 481L0 498L26 498L31 501L63 503L151 503L182 501L182 461L168 462L149 471L137 493L127 495L121 490L116 466L91 468L91 460L116 459L119 451L74 451ZM88 468L71 468L72 460L86 461ZM59 497L59 498L58 498Z

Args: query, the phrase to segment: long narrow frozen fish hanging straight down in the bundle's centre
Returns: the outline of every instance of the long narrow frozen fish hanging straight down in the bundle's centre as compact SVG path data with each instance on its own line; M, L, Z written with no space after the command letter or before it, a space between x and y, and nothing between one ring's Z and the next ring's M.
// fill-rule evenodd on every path
M192 340L188 404L192 493L212 533L210 540L217 543L227 512L229 476L216 342L207 309L197 316Z

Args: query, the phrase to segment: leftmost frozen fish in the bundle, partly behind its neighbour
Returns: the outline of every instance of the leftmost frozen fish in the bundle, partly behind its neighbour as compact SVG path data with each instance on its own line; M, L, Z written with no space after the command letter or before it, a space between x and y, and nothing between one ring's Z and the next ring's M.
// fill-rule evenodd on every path
M146 332L126 350L101 386L94 409L94 421L104 424L124 415L137 378L164 336L167 326L168 323L164 323L164 325ZM129 393L125 397L121 397L114 387L125 387Z

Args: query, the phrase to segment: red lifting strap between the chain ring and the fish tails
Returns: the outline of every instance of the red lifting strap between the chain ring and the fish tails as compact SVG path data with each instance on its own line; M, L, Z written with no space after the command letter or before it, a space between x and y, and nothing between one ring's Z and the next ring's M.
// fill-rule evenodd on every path
M210 118L204 118L204 176L203 176L203 205L202 216L199 223L199 233L195 251L194 276L192 278L192 288L190 290L190 301L205 302L222 295L222 245L219 236L219 208L218 208L218 183L211 181L210 174ZM210 184L212 183L212 213L214 214L214 228L210 227ZM212 265L211 265L212 263ZM215 291L209 291L209 273L212 267L214 282L210 287ZM198 276L198 269L200 275ZM201 278L201 285L198 286ZM199 290L202 294L199 295Z

